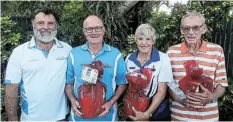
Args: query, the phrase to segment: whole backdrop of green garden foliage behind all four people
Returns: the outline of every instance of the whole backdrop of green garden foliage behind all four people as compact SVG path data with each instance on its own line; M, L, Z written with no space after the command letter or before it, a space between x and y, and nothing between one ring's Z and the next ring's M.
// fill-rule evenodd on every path
M187 5L175 4L169 15L163 12L151 12L151 7L159 2L140 1L124 16L119 14L118 10L124 3L123 1L3 1L1 5L4 16L30 17L39 8L54 9L60 15L58 37L72 46L83 43L82 24L84 18L90 14L98 15L105 24L106 42L118 47L124 56L136 50L135 38L128 34L134 34L135 29L141 23L148 22L156 29L155 47L165 52L169 46L182 41L179 26L184 14L197 11L204 15L209 31L203 38L208 40L211 39L216 29L223 27L223 20L232 18L232 15L228 14L229 10L233 8L232 1L191 1ZM21 43L19 39L25 35L23 31L20 31L21 34L17 33L16 23L4 16L1 17L2 79L4 79L5 65L12 49ZM220 120L233 120L232 82L230 79L229 88L223 99L219 101ZM4 89L1 88L1 91L3 93ZM122 103L119 106L122 107ZM119 113L122 118L119 119L125 120L121 107Z

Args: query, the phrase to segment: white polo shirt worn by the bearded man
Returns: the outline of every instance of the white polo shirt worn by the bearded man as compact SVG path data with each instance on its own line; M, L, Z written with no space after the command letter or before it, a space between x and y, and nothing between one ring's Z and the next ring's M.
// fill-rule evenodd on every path
M20 84L21 121L64 119L67 57L71 46L55 39L50 52L38 48L34 37L14 49L6 69L6 84ZM47 55L47 56L46 56Z

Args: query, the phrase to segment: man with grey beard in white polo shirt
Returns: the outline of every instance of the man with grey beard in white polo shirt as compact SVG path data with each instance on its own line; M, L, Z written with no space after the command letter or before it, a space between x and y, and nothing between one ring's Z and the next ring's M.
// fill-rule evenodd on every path
M36 12L32 25L34 36L13 50L7 65L4 101L8 120L19 120L18 93L21 121L63 120L68 112L64 90L72 48L56 38L57 19L51 10Z

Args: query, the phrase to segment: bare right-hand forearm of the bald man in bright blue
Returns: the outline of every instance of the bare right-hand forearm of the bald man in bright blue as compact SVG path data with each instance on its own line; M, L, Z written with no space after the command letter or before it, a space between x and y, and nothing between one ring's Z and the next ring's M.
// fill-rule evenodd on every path
M125 91L127 85L119 85L117 87L117 90L114 94L114 96L111 98L111 100L109 101L112 105L119 99L119 97L121 96L121 94Z

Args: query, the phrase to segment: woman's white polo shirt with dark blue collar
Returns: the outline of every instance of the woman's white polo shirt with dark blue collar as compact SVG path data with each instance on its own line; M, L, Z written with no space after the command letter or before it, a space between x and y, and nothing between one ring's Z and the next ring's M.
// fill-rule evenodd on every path
M167 54L153 49L150 60L144 66L141 66L137 60L137 54L138 51L126 57L127 72L142 70L143 68L152 69L152 78L149 85L144 89L145 95L151 98L157 93L158 82L171 82L173 80L170 59Z

